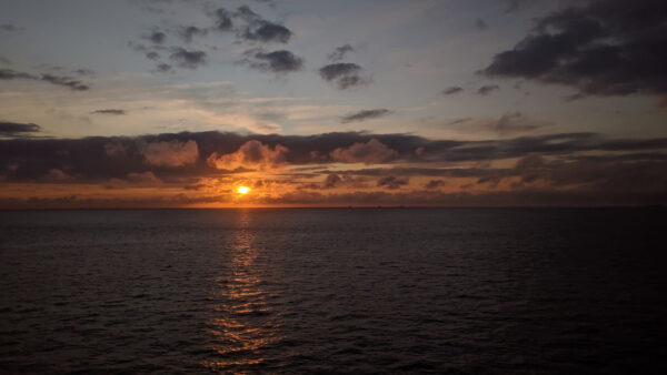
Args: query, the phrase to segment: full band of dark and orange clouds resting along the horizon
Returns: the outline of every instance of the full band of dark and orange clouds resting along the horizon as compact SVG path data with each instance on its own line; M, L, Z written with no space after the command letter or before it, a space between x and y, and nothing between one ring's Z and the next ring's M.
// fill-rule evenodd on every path
M667 139L595 133L14 139L0 160L1 207L667 203Z

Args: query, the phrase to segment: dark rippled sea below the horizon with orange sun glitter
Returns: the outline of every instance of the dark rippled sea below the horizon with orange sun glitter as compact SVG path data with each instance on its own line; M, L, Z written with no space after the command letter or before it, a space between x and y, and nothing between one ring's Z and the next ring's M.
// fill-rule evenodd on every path
M0 212L0 372L664 374L666 219Z

